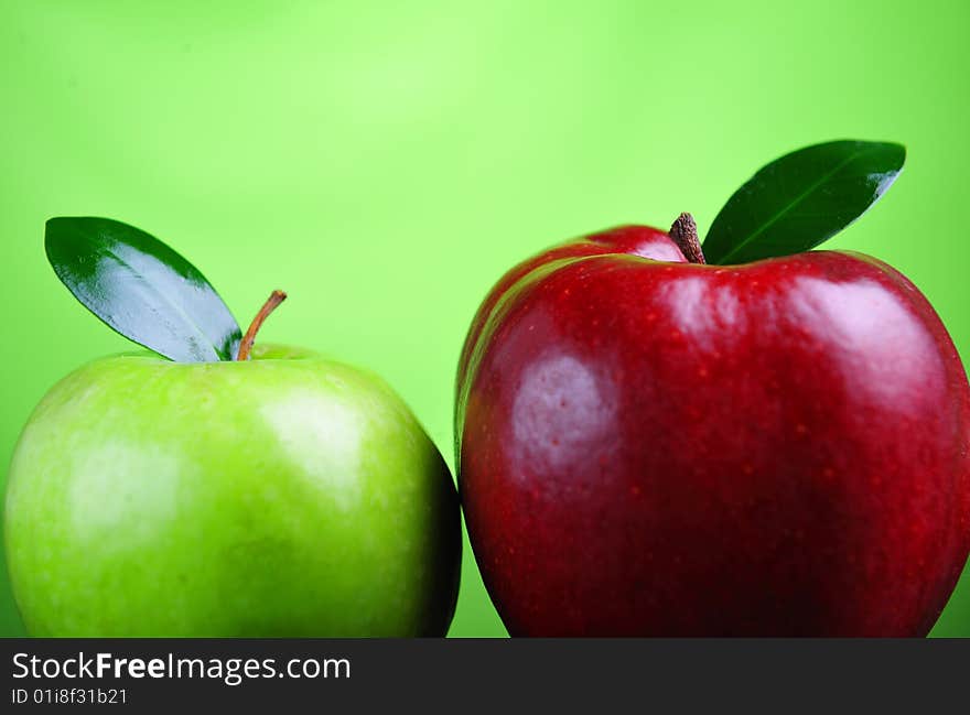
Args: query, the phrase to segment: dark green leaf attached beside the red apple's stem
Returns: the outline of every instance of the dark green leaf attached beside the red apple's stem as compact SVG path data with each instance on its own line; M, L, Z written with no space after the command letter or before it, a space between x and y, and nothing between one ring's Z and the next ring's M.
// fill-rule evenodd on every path
M832 141L762 167L718 214L704 239L708 263L745 263L807 251L879 201L903 170L906 149Z

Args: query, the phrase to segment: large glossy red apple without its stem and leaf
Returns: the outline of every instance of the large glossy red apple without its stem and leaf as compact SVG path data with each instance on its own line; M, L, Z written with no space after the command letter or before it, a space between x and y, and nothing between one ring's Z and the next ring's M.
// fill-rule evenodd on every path
M924 636L970 549L967 375L858 253L553 248L486 297L455 421L514 636Z

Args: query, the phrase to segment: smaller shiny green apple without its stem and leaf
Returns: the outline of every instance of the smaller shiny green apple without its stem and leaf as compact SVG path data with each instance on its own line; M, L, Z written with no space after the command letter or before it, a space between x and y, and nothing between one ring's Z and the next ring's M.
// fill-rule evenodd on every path
M118 356L43 399L6 542L33 636L443 636L457 494L379 378L306 350Z

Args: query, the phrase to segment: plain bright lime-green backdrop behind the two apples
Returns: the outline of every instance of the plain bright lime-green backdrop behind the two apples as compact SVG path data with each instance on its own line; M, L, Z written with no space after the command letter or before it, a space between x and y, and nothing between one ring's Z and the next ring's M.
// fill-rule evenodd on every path
M385 376L451 463L462 339L513 263L681 210L703 232L786 151L896 140L903 176L828 246L909 275L970 360L968 30L966 0L0 0L0 462L128 347L47 266L55 215L155 234L244 324L285 289L262 336ZM451 632L505 632L467 544ZM970 636L970 576L934 632Z

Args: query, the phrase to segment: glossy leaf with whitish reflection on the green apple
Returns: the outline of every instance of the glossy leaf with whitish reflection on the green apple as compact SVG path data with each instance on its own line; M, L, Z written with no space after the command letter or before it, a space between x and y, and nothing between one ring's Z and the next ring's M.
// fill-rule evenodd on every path
M91 313L139 345L181 362L236 356L241 332L205 277L144 231L109 218L47 221L47 260Z

